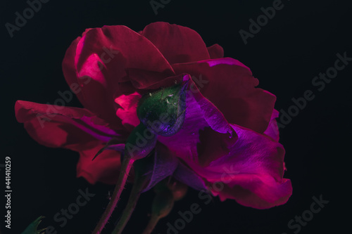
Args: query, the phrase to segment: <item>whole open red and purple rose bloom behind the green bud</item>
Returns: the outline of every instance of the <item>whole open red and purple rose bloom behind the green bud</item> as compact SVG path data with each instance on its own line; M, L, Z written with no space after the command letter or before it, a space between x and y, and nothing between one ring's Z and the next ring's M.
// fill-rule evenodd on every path
M139 124L144 93L189 80L182 129L158 136L168 157L177 158L175 178L194 188L206 183L221 200L249 207L283 204L292 188L283 178L276 98L256 88L248 67L222 57L218 44L207 48L194 30L166 22L142 32L120 25L88 29L63 60L65 79L84 109L18 100L16 117L42 145L80 152L77 176L115 183L120 152L92 157L111 138L125 143Z

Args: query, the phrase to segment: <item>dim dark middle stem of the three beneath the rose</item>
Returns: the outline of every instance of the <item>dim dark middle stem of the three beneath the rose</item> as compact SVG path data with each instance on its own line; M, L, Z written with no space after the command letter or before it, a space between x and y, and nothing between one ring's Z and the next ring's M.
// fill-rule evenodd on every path
M137 176L137 175L136 175ZM136 178L135 183L133 184L130 197L128 199L127 205L123 210L120 221L118 221L118 225L115 226L112 234L121 234L122 230L125 228L127 222L130 220L132 212L136 207L137 201L139 199L139 195L142 193L142 189L144 188L144 184L146 183L143 178Z

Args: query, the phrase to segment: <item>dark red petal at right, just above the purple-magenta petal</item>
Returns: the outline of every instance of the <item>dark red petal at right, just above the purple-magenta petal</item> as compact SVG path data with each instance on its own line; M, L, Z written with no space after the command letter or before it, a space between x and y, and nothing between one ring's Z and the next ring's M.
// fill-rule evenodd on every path
M172 65L176 74L187 72L201 93L225 115L228 122L259 133L267 129L276 97L257 89L248 67L232 58Z

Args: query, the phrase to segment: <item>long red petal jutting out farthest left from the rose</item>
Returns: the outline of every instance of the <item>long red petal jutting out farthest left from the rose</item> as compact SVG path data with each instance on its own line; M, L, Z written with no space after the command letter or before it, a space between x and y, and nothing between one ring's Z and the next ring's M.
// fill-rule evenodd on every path
M48 147L68 148L87 141L125 138L109 129L108 124L89 110L44 105L18 100L15 103L18 122L35 141Z

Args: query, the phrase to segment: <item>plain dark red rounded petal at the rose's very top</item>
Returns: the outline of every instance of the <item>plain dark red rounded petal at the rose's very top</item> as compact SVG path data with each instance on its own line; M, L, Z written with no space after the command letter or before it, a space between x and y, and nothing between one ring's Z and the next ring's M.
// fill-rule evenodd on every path
M201 36L189 27L170 25L168 22L153 22L144 28L142 35L163 53L170 64L210 58Z

